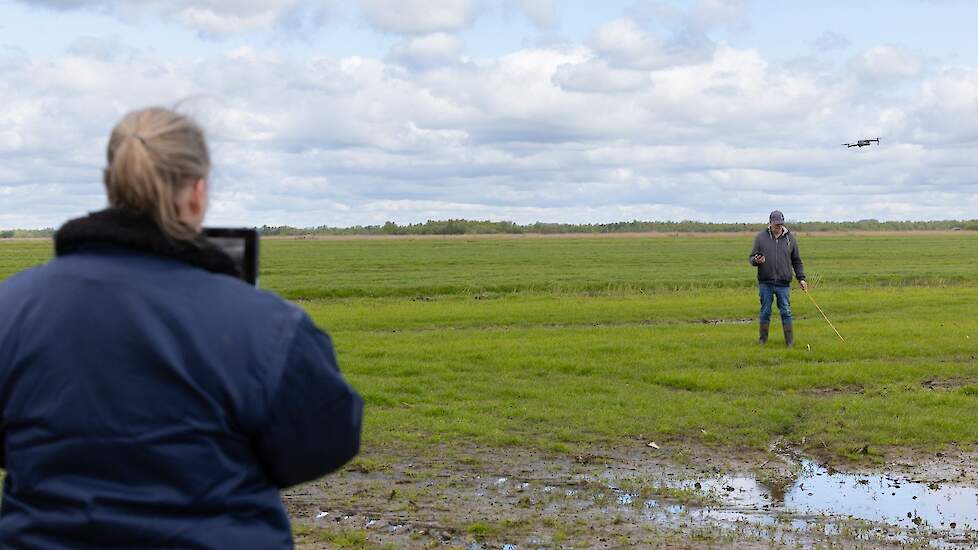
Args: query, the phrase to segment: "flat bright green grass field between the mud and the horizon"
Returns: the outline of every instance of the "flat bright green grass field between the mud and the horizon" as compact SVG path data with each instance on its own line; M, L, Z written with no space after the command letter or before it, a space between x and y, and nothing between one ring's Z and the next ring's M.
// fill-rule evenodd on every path
M639 434L855 457L978 442L978 235L801 235L797 347L755 344L751 236L266 240L333 336L364 446L576 452ZM0 278L43 241L0 242ZM802 443L804 441L804 443Z

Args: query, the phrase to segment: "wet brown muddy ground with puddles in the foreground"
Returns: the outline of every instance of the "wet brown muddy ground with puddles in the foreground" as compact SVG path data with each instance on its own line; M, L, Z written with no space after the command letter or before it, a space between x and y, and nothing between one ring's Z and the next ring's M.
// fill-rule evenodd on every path
M297 547L307 549L978 545L972 449L891 453L882 462L822 468L816 464L824 461L811 462L785 442L735 456L652 443L638 439L579 455L369 450L283 499ZM852 517L847 505L859 497L847 489L868 491L870 508L895 512ZM820 497L825 509L806 508ZM832 499L839 500L836 513ZM945 502L957 511L941 510Z

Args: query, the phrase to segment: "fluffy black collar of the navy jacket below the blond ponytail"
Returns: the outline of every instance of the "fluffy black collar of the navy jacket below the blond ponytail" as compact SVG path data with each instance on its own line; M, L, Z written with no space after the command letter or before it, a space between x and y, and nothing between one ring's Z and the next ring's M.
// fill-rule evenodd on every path
M150 216L108 208L71 220L54 235L54 253L124 248L179 260L212 273L238 276L231 258L203 235L190 241L167 237Z

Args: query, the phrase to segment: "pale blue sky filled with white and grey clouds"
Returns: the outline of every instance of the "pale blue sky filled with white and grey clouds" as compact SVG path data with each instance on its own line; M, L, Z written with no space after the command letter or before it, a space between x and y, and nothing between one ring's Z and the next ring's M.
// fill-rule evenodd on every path
M212 225L978 218L970 0L0 0L0 228L179 105ZM880 146L841 144L881 137Z

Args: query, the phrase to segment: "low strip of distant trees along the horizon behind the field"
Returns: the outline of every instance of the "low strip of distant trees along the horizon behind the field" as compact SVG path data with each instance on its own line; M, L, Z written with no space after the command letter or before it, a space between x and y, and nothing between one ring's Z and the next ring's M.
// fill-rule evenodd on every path
M791 222L794 231L947 231L965 229L978 231L978 220L931 220L931 221L879 221L858 220L848 222ZM763 223L723 223L684 220L641 221L614 223L547 223L518 224L511 221L490 220L428 220L424 223L399 225L387 222L383 225L355 225L352 227L293 227L290 225L262 225L255 227L262 235L492 235L492 234L557 234L557 233L737 233L760 231ZM0 230L0 239L46 238L54 236L55 229L8 229Z

